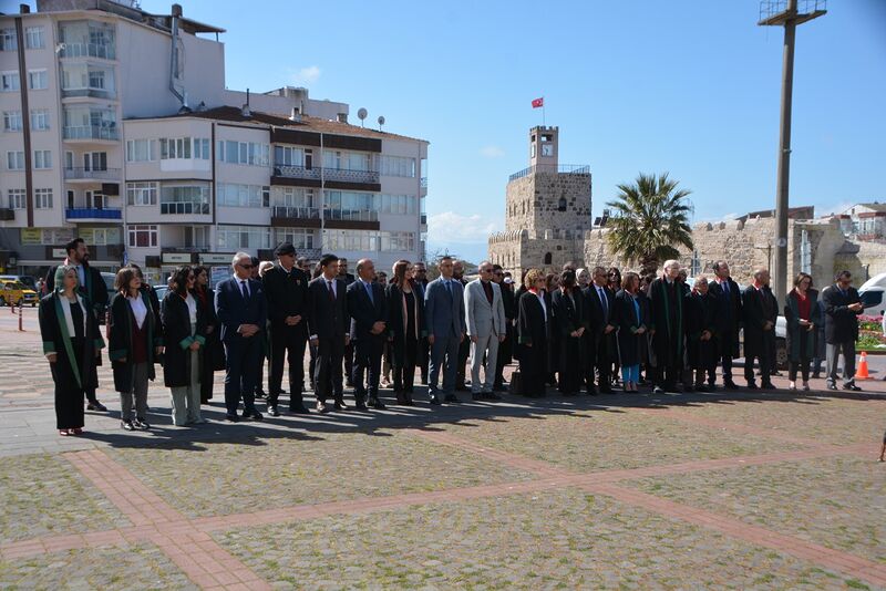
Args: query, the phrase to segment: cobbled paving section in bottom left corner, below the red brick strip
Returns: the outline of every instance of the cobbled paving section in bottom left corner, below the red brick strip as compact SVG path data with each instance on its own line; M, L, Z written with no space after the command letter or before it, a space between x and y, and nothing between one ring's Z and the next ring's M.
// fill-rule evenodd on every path
M199 588L159 548L140 543L0 561L0 589L147 591Z

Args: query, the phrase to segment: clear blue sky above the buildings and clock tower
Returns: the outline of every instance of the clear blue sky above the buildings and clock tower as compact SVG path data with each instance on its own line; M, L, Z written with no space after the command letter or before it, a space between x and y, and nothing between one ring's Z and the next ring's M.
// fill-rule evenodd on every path
M485 256L539 96L595 215L641 172L690 189L694 222L774 208L783 29L758 0L178 1L228 31L228 87L307 86L427 139L429 251ZM827 9L794 68L791 206L817 215L886 199L886 0Z

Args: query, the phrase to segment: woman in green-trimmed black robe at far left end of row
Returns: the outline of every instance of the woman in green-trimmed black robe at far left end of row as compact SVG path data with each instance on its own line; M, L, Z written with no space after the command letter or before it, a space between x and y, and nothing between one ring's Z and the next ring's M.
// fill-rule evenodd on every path
M76 267L60 266L54 279L54 291L40 300L40 335L55 383L59 435L80 435L86 390L99 386L95 363L104 340L99 321L78 293Z

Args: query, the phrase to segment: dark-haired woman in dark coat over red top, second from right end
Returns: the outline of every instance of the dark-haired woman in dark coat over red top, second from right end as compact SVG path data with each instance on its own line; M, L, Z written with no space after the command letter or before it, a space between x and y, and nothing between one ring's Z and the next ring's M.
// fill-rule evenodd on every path
M797 273L794 289L784 302L787 349L787 390L796 390L796 374L803 377L803 391L810 390L810 360L815 355L816 328L822 322L818 292L812 289L812 276Z

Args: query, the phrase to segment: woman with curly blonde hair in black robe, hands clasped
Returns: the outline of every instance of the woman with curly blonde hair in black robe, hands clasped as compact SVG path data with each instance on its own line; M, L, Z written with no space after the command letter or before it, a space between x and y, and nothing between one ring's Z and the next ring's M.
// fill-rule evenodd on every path
M552 323L550 307L544 298L545 276L538 269L526 273L527 290L519 298L517 340L521 343L519 373L522 394L529 397L545 395L548 376L548 334Z

